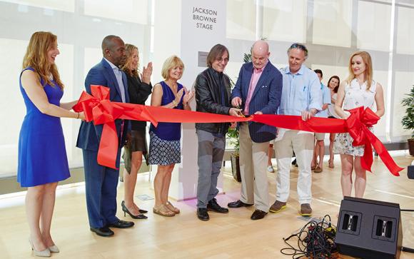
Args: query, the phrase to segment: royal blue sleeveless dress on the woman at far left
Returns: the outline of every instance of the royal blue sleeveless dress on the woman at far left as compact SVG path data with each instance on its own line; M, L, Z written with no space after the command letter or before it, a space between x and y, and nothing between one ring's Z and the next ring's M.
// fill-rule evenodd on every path
M31 67L26 69L34 71ZM19 136L17 181L21 187L64 181L70 173L61 119L41 113L21 86L21 79L19 81L26 116ZM41 81L41 85L43 83ZM49 103L60 105L64 92L59 86L46 84L44 91Z

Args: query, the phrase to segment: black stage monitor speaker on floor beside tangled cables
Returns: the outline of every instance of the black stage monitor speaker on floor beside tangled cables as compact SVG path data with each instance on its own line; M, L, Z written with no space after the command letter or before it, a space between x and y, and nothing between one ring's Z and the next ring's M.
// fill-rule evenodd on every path
M357 258L400 258L400 205L345 197L340 203L335 243L339 253Z

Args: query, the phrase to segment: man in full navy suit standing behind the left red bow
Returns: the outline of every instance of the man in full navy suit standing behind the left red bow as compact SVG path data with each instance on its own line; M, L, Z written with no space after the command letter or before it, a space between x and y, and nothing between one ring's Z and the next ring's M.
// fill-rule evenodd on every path
M104 59L89 71L85 79L86 92L91 93L91 85L107 86L111 89L110 100L128 103L126 75L118 66L126 61L125 44L118 36L109 35L102 41ZM128 131L128 121L115 121L118 133L118 154L116 167L119 168L121 147ZM109 228L130 228L133 222L116 218L116 187L119 169L98 164L97 155L103 126L82 121L76 146L82 148L84 156L86 207L91 231L101 236L111 236Z

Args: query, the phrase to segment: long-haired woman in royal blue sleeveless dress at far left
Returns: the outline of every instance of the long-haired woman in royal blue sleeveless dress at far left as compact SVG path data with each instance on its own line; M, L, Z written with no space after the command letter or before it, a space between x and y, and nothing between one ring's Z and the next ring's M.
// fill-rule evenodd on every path
M17 181L27 187L29 242L34 255L41 257L59 252L51 238L51 219L58 182L70 176L60 117L85 118L70 111L76 101L60 102L64 84L55 64L56 39L45 31L31 36L20 76L26 116L19 136Z

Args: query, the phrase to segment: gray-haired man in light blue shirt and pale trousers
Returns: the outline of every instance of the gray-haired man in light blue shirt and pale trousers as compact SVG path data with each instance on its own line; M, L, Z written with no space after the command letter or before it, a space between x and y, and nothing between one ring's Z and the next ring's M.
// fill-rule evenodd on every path
M320 81L315 72L303 65L306 58L308 58L306 46L295 43L288 49L289 66L281 69L283 88L281 106L278 109L278 114L301 116L303 121L309 120L322 109ZM276 178L276 201L270 211L276 213L286 208L291 183L292 151L295 151L299 167L297 190L301 215L311 215L310 161L313 154L313 133L279 128L278 138L274 145L278 176Z

